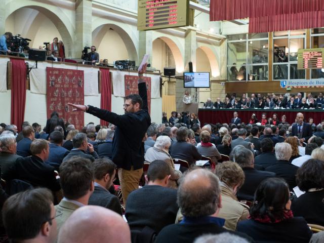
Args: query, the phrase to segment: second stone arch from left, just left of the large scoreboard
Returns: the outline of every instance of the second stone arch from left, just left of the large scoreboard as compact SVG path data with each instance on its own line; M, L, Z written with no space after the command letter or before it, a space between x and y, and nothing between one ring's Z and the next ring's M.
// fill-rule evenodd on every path
M96 27L92 32L93 45L95 45L97 47L99 46L99 44L101 43L103 37L105 36L105 34L109 28L116 31L116 33L118 33L118 35L121 37L121 39L123 39L123 42L127 48L129 59L135 60L136 64L138 64L138 54L137 54L137 50L136 50L135 44L134 44L131 36L128 34L127 31L125 31L120 26L117 26L116 24L106 23L106 24L102 24L102 25L99 25L98 27Z

